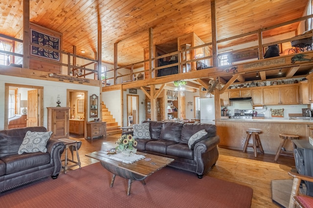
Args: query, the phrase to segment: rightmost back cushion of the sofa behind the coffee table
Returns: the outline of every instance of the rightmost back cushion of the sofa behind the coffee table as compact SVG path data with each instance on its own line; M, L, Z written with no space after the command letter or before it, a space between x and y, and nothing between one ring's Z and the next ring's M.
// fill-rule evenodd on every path
M192 135L198 131L205 129L207 137L216 136L216 125L212 124L184 124L181 128L180 143L187 143Z

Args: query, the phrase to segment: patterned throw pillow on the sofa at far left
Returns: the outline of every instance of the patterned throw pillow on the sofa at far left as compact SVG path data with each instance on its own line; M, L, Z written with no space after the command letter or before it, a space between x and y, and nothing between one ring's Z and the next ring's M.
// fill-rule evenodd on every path
M52 131L27 131L18 154L23 152L47 152L46 145L51 135Z

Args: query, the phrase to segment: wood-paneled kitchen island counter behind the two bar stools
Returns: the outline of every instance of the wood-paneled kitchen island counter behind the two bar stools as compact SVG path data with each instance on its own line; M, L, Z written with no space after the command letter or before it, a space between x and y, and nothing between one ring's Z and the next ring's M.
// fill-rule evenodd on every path
M281 141L279 134L298 135L301 140L308 140L310 128L313 128L313 119L217 119L215 125L217 135L220 136L219 147L243 150L246 130L258 128L262 130L259 136L264 152L275 155ZM285 148L292 150L290 143L286 143ZM247 151L253 151L253 149L247 148Z

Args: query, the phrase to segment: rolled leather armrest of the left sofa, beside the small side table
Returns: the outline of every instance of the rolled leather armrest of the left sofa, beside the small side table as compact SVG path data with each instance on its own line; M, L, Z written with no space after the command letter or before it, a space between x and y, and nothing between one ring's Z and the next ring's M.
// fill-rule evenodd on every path
M54 166L53 176L58 175L62 169L61 155L64 151L63 142L49 139L47 142L47 152L50 153L50 164Z

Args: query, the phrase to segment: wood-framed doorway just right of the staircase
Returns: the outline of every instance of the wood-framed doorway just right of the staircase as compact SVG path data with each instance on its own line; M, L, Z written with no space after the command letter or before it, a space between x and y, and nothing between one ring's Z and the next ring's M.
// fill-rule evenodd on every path
M128 126L139 122L139 95L127 94L127 122Z

